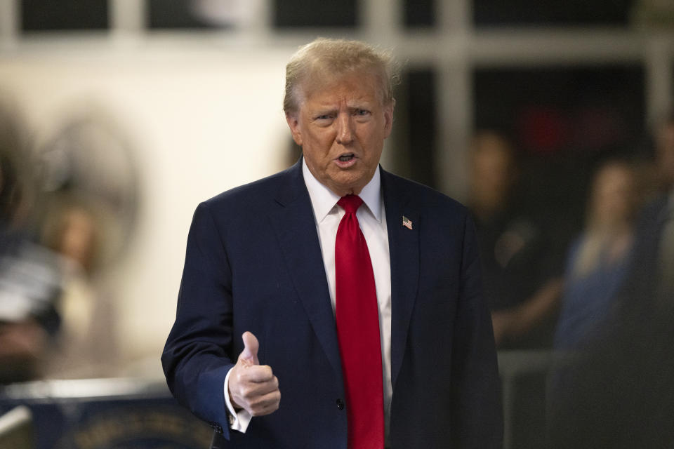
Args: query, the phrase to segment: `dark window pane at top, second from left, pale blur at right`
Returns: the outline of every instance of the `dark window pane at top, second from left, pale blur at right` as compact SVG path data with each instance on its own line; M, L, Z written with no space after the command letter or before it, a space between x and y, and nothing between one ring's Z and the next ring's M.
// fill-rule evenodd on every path
M218 8L216 11L200 8L198 1L147 0L147 25L151 29L221 28L234 25L223 22L222 15L223 11Z

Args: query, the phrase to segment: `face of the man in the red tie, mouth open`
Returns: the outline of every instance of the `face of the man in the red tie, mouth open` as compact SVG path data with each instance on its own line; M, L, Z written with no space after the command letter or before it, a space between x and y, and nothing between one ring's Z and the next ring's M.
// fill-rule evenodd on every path
M298 112L286 114L286 121L307 167L339 196L359 194L391 133L393 104L382 105L369 72L303 88Z

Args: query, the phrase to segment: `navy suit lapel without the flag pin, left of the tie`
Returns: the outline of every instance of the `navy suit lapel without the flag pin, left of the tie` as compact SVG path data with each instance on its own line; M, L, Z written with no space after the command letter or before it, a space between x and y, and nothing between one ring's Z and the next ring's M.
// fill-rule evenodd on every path
M277 207L270 212L270 220L289 267L293 286L317 339L341 380L335 317L301 159L287 173L288 182L277 192Z

